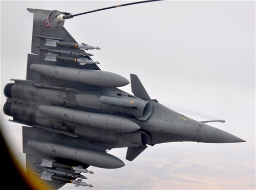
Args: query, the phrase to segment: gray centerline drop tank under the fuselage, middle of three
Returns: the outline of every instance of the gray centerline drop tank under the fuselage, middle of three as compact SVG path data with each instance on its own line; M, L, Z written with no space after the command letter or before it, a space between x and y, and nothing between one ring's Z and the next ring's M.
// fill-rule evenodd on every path
M38 110L43 114L62 121L69 121L72 123L97 127L104 130L133 132L140 129L140 126L135 122L119 116L83 112L70 108L50 105L40 105Z

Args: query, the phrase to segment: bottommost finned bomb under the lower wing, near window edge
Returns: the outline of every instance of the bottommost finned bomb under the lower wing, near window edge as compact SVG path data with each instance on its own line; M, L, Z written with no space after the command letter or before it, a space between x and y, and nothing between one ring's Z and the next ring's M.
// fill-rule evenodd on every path
M48 180L48 181L57 180L57 181L65 182L65 183L73 183L73 184L75 184L76 187L78 187L80 185L81 186L93 187L93 185L91 185L91 184L87 184L86 182L82 182L81 179L78 179L78 180L69 179L69 178L66 178L66 177L57 176L57 175L55 175L55 173L47 172L47 171L44 171L44 172L41 173L41 179L45 179L45 180Z

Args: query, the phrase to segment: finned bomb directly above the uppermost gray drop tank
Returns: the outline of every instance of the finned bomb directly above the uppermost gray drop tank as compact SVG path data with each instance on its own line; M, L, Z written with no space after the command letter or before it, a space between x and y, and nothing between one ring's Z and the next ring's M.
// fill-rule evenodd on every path
M79 65L85 64L99 64L98 61L89 60L88 58L73 58L73 57L66 57L66 56L59 56L57 53L46 53L45 54L46 61L65 61L65 62L74 62L79 63Z

